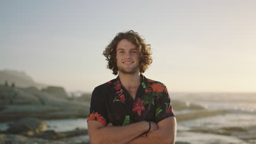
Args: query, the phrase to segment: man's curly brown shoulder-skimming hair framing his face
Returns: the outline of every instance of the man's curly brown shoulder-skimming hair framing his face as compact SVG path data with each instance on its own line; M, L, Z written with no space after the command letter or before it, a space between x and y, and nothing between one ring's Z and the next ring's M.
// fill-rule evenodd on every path
M118 43L126 39L130 41L139 51L139 73L144 73L146 69L148 69L149 65L152 64L152 51L151 45L146 44L145 39L132 30L127 31L125 33L120 32L115 35L115 38L111 41L111 43L106 47L103 52L103 55L106 57L108 61L107 68L113 70L113 74L118 74L118 67L117 67L117 45Z

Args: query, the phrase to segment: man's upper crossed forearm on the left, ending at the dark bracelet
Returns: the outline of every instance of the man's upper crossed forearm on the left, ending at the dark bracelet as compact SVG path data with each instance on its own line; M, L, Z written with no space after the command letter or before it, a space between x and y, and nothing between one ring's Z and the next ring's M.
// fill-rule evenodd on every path
M146 121L126 125L124 127L102 127L89 133L91 143L127 143L148 130Z

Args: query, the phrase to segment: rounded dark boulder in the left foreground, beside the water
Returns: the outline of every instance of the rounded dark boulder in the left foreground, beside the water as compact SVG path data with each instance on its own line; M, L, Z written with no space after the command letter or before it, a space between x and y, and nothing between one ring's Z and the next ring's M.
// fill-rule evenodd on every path
M13 122L9 125L7 133L33 135L44 131L46 129L46 123L36 118L22 118L17 122Z

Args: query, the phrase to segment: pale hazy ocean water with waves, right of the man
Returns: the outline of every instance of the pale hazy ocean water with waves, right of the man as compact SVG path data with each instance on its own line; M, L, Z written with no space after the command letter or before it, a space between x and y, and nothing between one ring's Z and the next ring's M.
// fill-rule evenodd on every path
M176 141L195 144L256 143L256 93L170 93L170 97L185 101L187 105L201 105L208 111L226 111L210 117L177 121ZM199 111L173 109L177 115ZM253 130L247 134L243 130L248 127ZM230 128L230 133L225 133L224 128Z

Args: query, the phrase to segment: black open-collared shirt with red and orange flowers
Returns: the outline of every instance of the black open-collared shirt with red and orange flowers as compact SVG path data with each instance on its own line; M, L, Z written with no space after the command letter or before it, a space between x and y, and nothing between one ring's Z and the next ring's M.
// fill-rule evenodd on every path
M176 117L166 86L141 75L142 83L133 100L121 85L119 76L94 89L88 121L103 125L127 125L139 121L158 123L167 117Z

